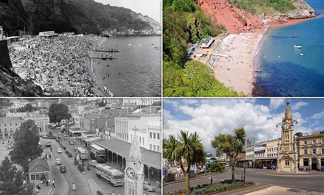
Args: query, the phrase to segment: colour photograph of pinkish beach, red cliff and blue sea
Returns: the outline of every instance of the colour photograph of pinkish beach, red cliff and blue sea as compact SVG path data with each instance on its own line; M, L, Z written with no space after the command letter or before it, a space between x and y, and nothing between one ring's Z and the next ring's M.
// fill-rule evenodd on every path
M166 97L324 96L324 2L163 1Z

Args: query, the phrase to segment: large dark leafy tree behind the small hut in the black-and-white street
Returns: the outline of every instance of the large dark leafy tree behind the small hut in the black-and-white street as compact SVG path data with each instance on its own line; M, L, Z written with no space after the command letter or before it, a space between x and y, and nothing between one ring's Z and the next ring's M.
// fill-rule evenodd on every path
M29 159L40 157L43 149L39 142L39 131L34 120L26 120L21 124L20 128L15 132L14 147L9 152L11 160L26 169Z

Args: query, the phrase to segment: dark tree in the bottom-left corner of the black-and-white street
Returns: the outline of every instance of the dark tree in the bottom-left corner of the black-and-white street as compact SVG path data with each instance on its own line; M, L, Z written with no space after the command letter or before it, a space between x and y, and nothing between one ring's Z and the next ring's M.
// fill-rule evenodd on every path
M1 193L3 195L18 195L24 188L22 171L17 170L8 157L0 166L0 181L0 191L4 191Z

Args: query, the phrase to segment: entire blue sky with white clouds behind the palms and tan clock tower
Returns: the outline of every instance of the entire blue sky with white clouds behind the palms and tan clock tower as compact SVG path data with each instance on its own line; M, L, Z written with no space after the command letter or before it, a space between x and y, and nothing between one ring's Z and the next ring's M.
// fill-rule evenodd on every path
M208 152L214 153L210 141L220 133L244 127L247 138L256 142L277 139L289 100L290 113L298 120L294 133L324 130L324 99L164 99L163 134L186 129L199 132Z

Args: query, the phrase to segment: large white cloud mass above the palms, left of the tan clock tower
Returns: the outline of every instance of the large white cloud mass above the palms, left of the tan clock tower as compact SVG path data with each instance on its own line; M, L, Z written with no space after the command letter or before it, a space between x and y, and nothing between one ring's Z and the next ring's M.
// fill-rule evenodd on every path
M212 101L217 103L209 104ZM166 120L164 117L164 136L177 134L180 128L190 132L197 131L205 142L207 151L211 153L214 149L211 148L210 141L214 136L220 133L231 134L234 128L244 127L247 138L255 136L256 141L276 139L280 136L280 128L276 128L276 124L281 122L284 112L280 115L273 114L268 107L255 105L254 101L250 100L207 99L202 102L204 103L198 107L190 105L179 107L179 110L192 119Z

